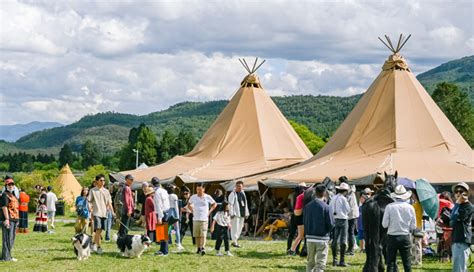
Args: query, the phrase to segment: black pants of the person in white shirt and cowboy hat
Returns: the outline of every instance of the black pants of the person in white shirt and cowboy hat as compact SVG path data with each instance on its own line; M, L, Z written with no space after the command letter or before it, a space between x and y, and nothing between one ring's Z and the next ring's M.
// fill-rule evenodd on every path
M397 271L397 251L402 257L403 269L411 271L411 237L410 235L387 235L387 272Z

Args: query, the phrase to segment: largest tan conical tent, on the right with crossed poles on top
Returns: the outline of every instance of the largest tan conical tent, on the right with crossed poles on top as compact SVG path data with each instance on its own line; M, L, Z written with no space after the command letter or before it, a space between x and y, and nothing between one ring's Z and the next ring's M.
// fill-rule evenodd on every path
M410 37L410 36L409 36ZM408 37L408 38L409 38ZM394 173L431 183L474 181L473 151L446 118L399 54L393 54L326 146L294 167L248 179L318 182L326 176L370 183Z

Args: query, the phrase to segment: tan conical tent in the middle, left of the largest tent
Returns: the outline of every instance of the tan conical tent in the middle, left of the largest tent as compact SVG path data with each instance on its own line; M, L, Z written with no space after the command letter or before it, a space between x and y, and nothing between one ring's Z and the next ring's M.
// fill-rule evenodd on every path
M135 180L180 176L191 181L224 181L287 167L311 157L255 71L241 61L248 75L240 89L194 149L147 169L122 172Z

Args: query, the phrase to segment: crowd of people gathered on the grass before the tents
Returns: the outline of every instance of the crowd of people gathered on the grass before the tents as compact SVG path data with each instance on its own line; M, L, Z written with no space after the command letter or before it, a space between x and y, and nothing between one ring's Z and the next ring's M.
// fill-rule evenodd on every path
M307 256L307 271L326 269L329 249L332 265L346 267L346 257L354 255L356 248L364 252L364 232L362 211L364 203L375 193L370 188L356 191L347 178L341 177L339 185L330 188L318 184L307 187L297 186L289 201L275 201L271 191L260 199L258 194L246 193L244 183L237 181L235 188L224 194L218 189L211 196L206 194L205 185L195 184L196 193L183 186L177 188L153 178L143 183L141 190L133 191L132 175L125 177L124 183L105 186L105 176L95 177L92 186L84 187L75 201L77 219L76 233L90 232L93 235L92 251L102 254L103 234L105 241L111 237L111 229L118 225L118 235L126 235L132 222L142 226L146 234L159 245L158 256L170 254L169 245L175 244L177 252L183 251L182 241L190 233L196 253L206 254L208 231L216 240L217 256L233 256L230 247L240 248L242 231L261 224L261 200L264 210L282 212L269 220L261 230L268 230L267 238L281 228L288 230L287 253ZM4 190L0 197L0 222L2 224L2 260L16 261L12 249L16 233L28 232L28 202L30 197L15 186L11 176L4 179ZM36 186L38 192L36 218L33 231L53 232L57 196L51 187ZM453 186L453 202L449 192L440 194L438 222L449 230L446 247L453 258L453 271L467 271L467 261L472 242L471 220L474 208L468 200L469 186L459 183ZM178 196L179 194L179 196ZM394 199L385 208L382 226L387 230L386 261L387 270L396 271L396 258L400 254L404 271L411 271L412 265L422 263L422 232L420 201L415 190L398 185L391 194ZM140 209L138 209L140 208ZM260 211L261 212L261 211ZM115 220L114 220L115 218ZM263 223L263 222L262 222ZM421 235L420 235L421 233ZM174 234L174 242L172 236ZM358 239L356 239L356 237ZM268 240L268 239L266 239ZM358 247L356 240L359 241ZM221 246L224 244L224 252ZM446 244L444 244L446 246Z

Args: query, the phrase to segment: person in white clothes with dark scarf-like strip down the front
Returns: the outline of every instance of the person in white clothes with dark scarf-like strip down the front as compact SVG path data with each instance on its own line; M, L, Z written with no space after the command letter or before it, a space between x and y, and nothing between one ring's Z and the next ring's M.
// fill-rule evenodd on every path
M244 182L242 180L237 181L235 189L229 195L229 214L231 228L232 246L240 247L238 240L244 227L244 221L249 216L249 207L247 203L247 197L244 193Z

